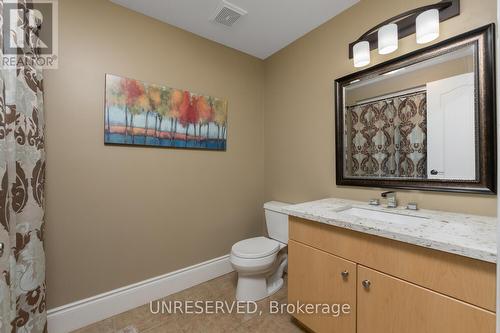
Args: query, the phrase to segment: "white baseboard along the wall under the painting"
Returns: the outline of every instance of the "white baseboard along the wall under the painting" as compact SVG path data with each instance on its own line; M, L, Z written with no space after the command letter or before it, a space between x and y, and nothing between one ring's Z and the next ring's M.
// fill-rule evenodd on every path
M229 255L66 304L48 313L48 331L67 333L233 271Z

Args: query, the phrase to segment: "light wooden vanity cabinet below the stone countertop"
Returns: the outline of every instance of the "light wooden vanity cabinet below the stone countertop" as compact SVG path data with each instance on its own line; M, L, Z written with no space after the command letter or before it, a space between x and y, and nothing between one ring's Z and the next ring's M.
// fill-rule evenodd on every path
M312 331L495 332L495 264L295 217L289 226L289 302L351 306L294 315Z

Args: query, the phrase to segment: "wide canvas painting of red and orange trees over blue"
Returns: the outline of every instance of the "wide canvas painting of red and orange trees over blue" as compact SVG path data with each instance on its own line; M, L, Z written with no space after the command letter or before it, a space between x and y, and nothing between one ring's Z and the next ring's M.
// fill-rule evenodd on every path
M227 101L106 75L104 142L226 150Z

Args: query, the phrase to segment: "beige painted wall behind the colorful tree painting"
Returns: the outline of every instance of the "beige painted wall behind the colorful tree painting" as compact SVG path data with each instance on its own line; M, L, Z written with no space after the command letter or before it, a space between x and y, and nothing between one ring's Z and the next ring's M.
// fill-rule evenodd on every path
M263 62L106 0L59 3L44 82L49 308L260 234ZM104 146L105 73L227 98L227 152Z

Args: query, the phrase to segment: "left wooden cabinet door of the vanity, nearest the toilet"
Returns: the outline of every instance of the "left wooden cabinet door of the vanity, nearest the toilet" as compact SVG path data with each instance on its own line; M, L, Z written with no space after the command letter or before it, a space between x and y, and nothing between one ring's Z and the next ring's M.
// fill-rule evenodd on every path
M349 304L350 313L295 313L316 333L356 332L356 264L310 246L288 243L289 304ZM320 311L321 312L321 311Z

